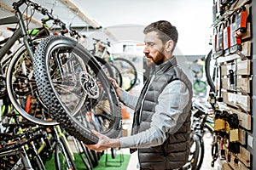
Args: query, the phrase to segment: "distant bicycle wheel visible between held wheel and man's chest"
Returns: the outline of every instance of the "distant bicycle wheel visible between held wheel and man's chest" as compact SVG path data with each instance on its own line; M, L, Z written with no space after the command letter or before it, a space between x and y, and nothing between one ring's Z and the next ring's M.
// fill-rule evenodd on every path
M137 69L130 60L125 58L113 59L113 65L117 67L122 75L122 88L131 90L137 82Z

